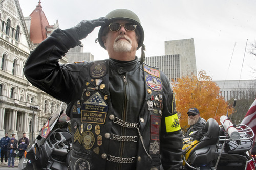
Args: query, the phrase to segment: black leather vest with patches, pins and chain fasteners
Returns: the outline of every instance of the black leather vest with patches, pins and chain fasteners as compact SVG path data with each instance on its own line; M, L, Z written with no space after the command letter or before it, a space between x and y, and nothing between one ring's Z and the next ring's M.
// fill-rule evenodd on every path
M160 71L137 60L130 66L113 62L91 62L80 95L68 106L70 169L160 169Z

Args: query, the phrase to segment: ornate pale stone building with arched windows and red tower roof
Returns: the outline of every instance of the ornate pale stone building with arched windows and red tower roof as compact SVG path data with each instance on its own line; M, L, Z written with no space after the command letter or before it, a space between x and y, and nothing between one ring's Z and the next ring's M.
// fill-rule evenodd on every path
M14 132L20 138L25 132L31 142L61 104L32 86L23 74L30 51L56 28L58 22L49 25L40 0L28 17L18 0L0 1L0 137ZM63 57L60 63L67 61Z

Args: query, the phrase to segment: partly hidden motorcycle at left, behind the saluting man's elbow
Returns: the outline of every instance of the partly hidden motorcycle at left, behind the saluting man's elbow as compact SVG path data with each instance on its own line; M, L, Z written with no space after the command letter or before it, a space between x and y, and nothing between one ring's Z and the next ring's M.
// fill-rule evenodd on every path
M62 103L49 118L20 159L18 169L68 169L72 135L66 108Z

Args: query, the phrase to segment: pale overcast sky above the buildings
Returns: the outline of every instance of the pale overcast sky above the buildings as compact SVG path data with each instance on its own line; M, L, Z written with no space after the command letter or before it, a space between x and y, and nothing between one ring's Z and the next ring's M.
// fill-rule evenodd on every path
M29 16L38 0L19 3L23 15ZM164 55L164 41L194 38L198 71L205 70L213 80L239 80L242 70L241 80L256 79L256 57L248 53L256 42L255 0L41 0L41 6L49 24L58 20L60 29L114 9L129 9L138 15L144 29L146 56ZM84 52L91 52L95 60L108 58L95 43L98 30L82 40Z

